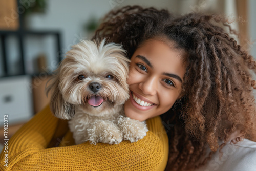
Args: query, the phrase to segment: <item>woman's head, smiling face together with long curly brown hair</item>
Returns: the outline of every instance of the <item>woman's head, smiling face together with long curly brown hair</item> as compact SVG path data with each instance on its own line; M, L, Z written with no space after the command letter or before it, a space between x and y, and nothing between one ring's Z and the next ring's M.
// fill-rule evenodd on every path
M122 44L132 60L125 114L138 120L161 115L166 125L166 170L213 170L211 156L230 141L241 151L243 138L256 141L256 62L225 31L225 18L127 6L104 21L94 38ZM250 154L256 159L251 149L236 157L247 162L230 156L218 169L254 170L243 160Z

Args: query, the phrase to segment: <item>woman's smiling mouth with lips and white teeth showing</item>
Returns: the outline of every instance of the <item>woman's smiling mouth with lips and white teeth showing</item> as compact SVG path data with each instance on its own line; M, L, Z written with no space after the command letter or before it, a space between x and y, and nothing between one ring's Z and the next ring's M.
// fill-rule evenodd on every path
M138 97L138 95L134 94L131 91L130 91L130 101L135 106L135 108L137 108L139 110L143 110L143 111L149 110L156 105L149 101L142 100L141 98Z

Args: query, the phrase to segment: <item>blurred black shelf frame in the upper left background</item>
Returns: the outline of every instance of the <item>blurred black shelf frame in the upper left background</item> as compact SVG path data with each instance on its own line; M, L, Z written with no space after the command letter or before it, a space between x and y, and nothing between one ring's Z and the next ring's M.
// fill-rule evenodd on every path
M19 0L17 0L18 6L20 6ZM2 61L3 61L3 68L4 68L4 76L11 76L8 74L8 67L7 67L7 53L6 53L6 38L10 35L14 35L18 38L18 45L19 45L19 54L20 54L20 67L21 72L17 75L25 75L25 56L24 56L24 37L27 35L53 35L56 37L56 51L57 53L57 61L60 62L62 57L60 54L60 48L61 48L61 35L59 31L31 31L31 30L25 30L23 27L23 13L19 14L19 28L15 31L9 31L9 30L0 30L0 39L1 39L1 48L2 48Z

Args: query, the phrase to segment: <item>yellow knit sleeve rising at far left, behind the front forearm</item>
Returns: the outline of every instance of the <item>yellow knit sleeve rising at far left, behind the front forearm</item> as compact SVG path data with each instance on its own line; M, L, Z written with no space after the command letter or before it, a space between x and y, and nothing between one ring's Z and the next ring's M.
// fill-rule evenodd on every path
M47 148L53 138L58 122L49 106L35 115L28 123L24 124L8 141L8 152L3 150L0 155L0 168L9 170L20 160ZM6 158L8 164L6 165ZM5 159L3 160L3 158ZM6 166L8 167L6 167Z

